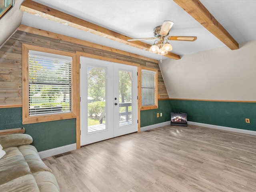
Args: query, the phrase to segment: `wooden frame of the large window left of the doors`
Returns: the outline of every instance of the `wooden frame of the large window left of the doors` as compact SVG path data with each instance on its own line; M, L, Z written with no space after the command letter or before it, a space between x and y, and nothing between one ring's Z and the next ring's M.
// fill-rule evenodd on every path
M28 82L28 52L29 50L46 52L72 57L71 64L71 112L63 114L47 114L38 116L29 116L29 82ZM38 47L34 45L22 44L22 124L31 124L39 122L48 122L54 120L76 118L76 54L50 48Z

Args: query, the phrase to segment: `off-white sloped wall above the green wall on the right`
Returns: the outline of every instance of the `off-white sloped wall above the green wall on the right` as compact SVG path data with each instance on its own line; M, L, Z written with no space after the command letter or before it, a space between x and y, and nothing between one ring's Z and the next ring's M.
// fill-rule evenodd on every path
M160 63L169 98L256 101L256 40Z

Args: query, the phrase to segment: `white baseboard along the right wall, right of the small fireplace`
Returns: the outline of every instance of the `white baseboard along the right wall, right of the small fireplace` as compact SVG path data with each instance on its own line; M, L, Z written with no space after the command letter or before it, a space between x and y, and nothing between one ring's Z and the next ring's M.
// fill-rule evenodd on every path
M189 125L201 126L201 127L207 127L207 128L213 128L213 129L220 129L220 130L225 130L225 131L232 131L232 132L256 135L256 131L245 130L245 129L224 127L224 126L211 125L211 124L205 124L205 123L198 123L198 122L192 122L192 121L188 121L188 124Z

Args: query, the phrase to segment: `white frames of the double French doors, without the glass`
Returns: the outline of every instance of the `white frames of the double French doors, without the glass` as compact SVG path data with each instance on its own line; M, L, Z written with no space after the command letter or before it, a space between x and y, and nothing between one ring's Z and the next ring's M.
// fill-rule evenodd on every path
M123 126L119 128L119 102L116 108L118 108L118 124L114 124L114 117L113 117L113 112L114 112L114 70L119 71L121 70L128 70L132 71L131 68L138 70L137 66L130 66L130 65L125 65L125 64L118 64L118 63L113 63L113 62L108 62L108 61L103 61L103 60L97 60L97 59L92 59L92 58L85 58L85 57L80 57L80 63L81 63L81 68L80 68L80 96L81 96L81 102L80 102L80 130L81 130L81 135L80 135L80 145L86 145L90 144L93 142L98 142L100 140L106 140L108 138L113 138L114 136L120 136L123 134L128 134L129 132L129 127L136 126L136 129L133 129L132 132L138 131L138 78L137 78L137 72L133 73L133 86L135 90L136 96L133 96L133 123L130 126ZM87 118L83 118L82 114L87 114L88 111L88 104L87 104L87 66L95 66L95 67L103 67L106 69L106 89L107 89L107 95L106 95L106 101L107 102L113 102L113 104L108 104L106 106L106 130L102 130L99 132L93 132L93 133L88 133L87 127L88 127L88 120ZM116 68L115 68L116 66ZM121 66L117 68L117 66ZM113 70L114 69L114 70ZM84 75L85 74L85 75ZM118 80L117 80L118 81ZM83 82L83 83L81 83ZM111 84L111 82L113 82ZM84 87L83 87L84 86ZM116 85L115 85L116 86ZM119 95L117 96L119 98ZM134 98L136 97L136 99ZM86 98L86 99L84 99ZM82 107L83 106L83 107ZM112 114L111 114L112 111ZM108 125L113 125L111 126ZM118 128L117 128L118 126ZM85 127L86 127L86 132L85 132ZM114 131L114 127L117 128L117 131ZM128 131L124 131L125 127ZM89 137L86 136L86 140L84 140L83 135L90 135Z

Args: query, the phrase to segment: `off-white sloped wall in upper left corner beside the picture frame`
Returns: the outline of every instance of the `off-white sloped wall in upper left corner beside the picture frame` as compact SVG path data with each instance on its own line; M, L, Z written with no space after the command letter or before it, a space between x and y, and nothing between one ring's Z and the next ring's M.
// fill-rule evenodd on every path
M22 14L20 4L23 0L15 0L14 7L0 18L0 47L21 24Z

